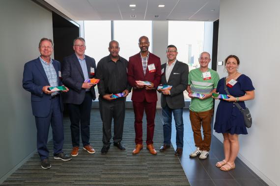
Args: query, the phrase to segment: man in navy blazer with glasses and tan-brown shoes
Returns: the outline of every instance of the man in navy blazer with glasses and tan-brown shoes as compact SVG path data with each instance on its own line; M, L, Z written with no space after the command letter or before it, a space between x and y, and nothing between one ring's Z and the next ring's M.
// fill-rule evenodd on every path
M67 104L70 121L73 149L71 156L77 156L80 146L80 128L83 149L88 153L95 153L89 144L89 124L92 100L95 100L93 83L84 82L95 76L95 60L84 55L84 38L77 38L73 42L74 54L65 57L62 64L62 82L69 88L63 95L63 102Z

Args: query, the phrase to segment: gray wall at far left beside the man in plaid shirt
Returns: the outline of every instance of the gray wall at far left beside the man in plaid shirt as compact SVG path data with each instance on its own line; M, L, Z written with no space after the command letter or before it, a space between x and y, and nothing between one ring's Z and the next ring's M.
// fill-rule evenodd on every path
M0 0L0 183L36 150L24 64L39 56L42 37L53 38L52 13L31 0ZM38 159L39 161L39 159Z

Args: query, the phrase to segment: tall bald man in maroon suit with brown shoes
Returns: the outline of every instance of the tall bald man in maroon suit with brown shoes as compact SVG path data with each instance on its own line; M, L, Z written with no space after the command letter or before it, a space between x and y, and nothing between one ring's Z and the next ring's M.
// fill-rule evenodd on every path
M135 143L136 147L132 154L138 154L143 148L142 140L142 118L144 110L147 117L147 149L156 155L153 146L155 129L155 115L157 104L156 88L161 81L160 58L149 52L149 39L146 36L139 38L140 53L131 56L128 61L128 82L133 87L132 101L135 114ZM151 85L139 85L136 81L149 81Z

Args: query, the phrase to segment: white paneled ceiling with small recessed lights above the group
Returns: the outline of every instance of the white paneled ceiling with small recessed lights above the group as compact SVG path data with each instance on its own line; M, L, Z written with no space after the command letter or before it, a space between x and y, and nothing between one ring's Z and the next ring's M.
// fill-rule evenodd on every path
M220 0L45 0L72 20L219 19ZM136 4L136 7L129 7ZM165 7L158 7L165 4ZM135 10L131 10L131 9ZM136 18L131 18L135 15ZM157 18L155 16L158 16Z

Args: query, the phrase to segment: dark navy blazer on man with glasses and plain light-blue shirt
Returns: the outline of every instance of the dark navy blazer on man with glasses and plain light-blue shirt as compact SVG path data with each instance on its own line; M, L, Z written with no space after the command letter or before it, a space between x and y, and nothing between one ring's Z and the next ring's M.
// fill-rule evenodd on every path
M88 77L94 78L96 74L95 60L85 55L85 63L87 67ZM94 75L90 74L90 68L94 68ZM77 55L74 53L63 58L62 63L62 82L69 89L67 93L63 93L63 102L71 104L82 104L85 96L85 89L82 88L84 83L84 74ZM95 100L94 86L90 88L92 99Z

